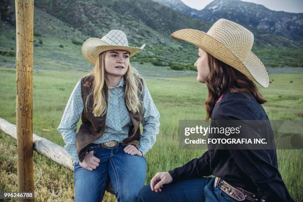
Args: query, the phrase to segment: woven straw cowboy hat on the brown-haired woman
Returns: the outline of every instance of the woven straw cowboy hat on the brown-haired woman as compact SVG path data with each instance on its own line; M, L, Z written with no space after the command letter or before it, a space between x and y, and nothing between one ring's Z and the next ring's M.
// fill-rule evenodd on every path
M230 20L219 19L207 33L194 29L182 29L172 33L171 37L200 47L261 86L268 87L267 70L252 52L253 33L245 27Z

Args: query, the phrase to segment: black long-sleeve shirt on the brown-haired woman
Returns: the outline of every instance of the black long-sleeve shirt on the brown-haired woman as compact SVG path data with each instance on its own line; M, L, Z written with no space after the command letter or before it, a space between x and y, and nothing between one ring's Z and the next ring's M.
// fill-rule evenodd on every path
M211 119L268 120L268 117L253 95L225 92L215 104ZM267 129L272 132L270 125ZM276 150L208 150L169 173L173 182L215 175L235 187L258 194L266 202L294 201L278 170Z

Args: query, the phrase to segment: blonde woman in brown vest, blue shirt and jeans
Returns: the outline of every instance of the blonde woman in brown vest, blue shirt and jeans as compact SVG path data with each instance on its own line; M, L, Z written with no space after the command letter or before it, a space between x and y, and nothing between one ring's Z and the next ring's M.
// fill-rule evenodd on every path
M74 159L76 202L100 202L109 181L119 202L133 202L144 186L143 155L159 131L159 113L129 61L144 46L128 46L120 30L82 45L95 68L76 84L57 128Z

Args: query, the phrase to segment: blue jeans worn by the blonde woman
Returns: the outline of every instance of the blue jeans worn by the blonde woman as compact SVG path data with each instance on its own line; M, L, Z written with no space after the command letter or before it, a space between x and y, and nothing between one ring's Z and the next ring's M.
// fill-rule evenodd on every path
M89 148L100 163L93 171L74 165L75 201L100 202L110 179L118 202L135 202L146 178L145 157L125 153L125 146Z

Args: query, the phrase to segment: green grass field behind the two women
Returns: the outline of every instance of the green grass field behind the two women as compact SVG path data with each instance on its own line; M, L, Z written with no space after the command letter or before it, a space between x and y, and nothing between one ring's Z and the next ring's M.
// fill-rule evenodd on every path
M140 72L140 69L139 69ZM56 130L65 104L79 78L87 72L34 71L35 134L64 146ZM180 73L182 74L182 72ZM192 74L192 73L191 73ZM0 67L0 117L15 124L16 74L14 68ZM188 76L188 75L187 75ZM273 81L272 81L273 80ZM161 114L160 133L150 152L148 183L158 171L181 166L192 158L200 157L201 150L178 149L178 120L204 119L203 103L207 96L206 86L191 77L147 77L148 88ZM261 88L267 102L263 105L269 118L274 120L303 119L303 73L272 74L269 88ZM292 81L292 83L290 82ZM81 121L80 121L81 122ZM81 123L78 123L78 126ZM43 129L49 129L49 132ZM279 150L278 163L283 180L292 197L303 201L303 151ZM35 155L35 195L37 201L73 201L73 173L48 158ZM0 192L17 191L16 140L0 133ZM103 201L115 201L106 194Z

